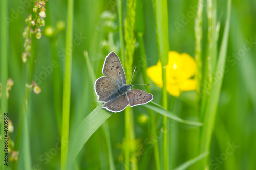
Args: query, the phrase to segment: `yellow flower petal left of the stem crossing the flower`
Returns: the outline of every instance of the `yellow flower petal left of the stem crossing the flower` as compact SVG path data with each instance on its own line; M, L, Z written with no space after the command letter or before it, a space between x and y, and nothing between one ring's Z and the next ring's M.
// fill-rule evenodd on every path
M156 83L158 86L163 86L163 80L162 80L162 67L160 61L157 62L157 65L153 65L151 67L148 67L147 75L150 77L150 79Z

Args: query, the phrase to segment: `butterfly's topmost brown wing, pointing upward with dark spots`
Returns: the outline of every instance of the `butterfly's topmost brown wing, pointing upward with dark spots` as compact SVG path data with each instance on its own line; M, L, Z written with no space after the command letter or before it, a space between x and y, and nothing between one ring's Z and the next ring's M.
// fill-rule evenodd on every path
M126 77L122 64L115 52L110 52L108 56L106 56L102 73L118 84L119 87L126 84Z

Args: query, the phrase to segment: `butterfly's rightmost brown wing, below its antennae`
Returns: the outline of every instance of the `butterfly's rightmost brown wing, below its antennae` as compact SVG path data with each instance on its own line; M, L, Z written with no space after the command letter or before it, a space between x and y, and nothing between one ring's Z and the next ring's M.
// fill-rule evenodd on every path
M132 89L127 93L127 97L131 107L146 104L153 99L153 95L138 89Z

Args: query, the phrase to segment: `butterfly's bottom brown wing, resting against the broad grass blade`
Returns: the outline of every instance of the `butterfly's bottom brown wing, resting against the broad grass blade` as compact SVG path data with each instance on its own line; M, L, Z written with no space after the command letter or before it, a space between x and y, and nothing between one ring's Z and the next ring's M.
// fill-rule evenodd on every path
M111 112L120 112L129 105L127 95L121 95L116 99L106 102L102 108Z

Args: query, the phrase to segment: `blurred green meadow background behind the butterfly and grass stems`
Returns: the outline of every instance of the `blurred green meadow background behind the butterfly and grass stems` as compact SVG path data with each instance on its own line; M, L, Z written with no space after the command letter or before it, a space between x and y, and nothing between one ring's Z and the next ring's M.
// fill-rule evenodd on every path
M133 66L137 67L133 82L143 84L142 72L139 58L140 46L138 43L136 27L144 24L144 43L148 66L155 65L159 59L158 46L156 40L156 24L152 1L137 0L142 3L143 17L137 17L135 21L135 53ZM9 1L9 18L16 15L13 22L8 27L8 78L14 82L8 99L9 118L13 123L14 131L10 138L15 141L22 100L25 88L25 64L22 61L24 51L24 39L22 34L26 26L25 19L32 13L32 3L28 3L28 8L17 13L21 2L29 1ZM206 3L206 1L204 1ZM168 1L168 25L169 25L169 48L179 53L188 53L195 56L195 17L185 19L187 13L193 11L191 7L197 6L198 1ZM223 36L224 24L227 14L227 1L216 1L217 22L220 24L218 49ZM226 67L223 84L221 88L220 100L216 113L215 129L211 142L210 158L212 164L210 169L256 169L256 34L255 17L256 1L254 0L232 0L230 18L230 32L227 46ZM123 26L126 17L127 2L122 1ZM14 14L16 11L16 14ZM193 11L196 14L195 11ZM192 12L192 13L193 13ZM60 59L61 80L63 82L63 63L61 60L65 55L65 28L61 28L61 21L66 25L67 1L46 2L45 27L42 27L42 37L37 40L36 63L34 78L39 76L44 67L50 66L52 61L51 46L53 40L49 38L49 33L45 30L48 27L55 29L53 36L56 39L56 52ZM1 18L2 19L2 18ZM185 24L183 22L186 22ZM175 22L183 23L183 27L177 29ZM57 29L59 27L59 29ZM104 59L110 51L115 51L120 55L119 25L116 1L78 0L74 2L74 34L73 40L81 37L80 43L74 45L72 61L72 82L71 82L71 110L70 110L70 136L74 134L76 128L83 118L85 118L98 103L93 102L95 93L93 84L89 79L86 60L83 52L88 51L90 61L96 77L102 76L101 69ZM207 47L207 16L206 8L203 8L203 39L202 55L206 56ZM51 36L51 34L50 34ZM238 55L244 44L251 41L250 50L243 55ZM32 167L38 164L41 169L60 168L60 150L47 158L46 154L60 140L58 130L58 117L54 109L52 74L47 74L47 78L37 83L41 88L40 94L31 93L29 102L29 142ZM128 82L130 80L127 80ZM59 87L62 90L62 87ZM161 88L156 87L153 82L150 86L154 95L154 102L161 103ZM144 90L144 87L140 87ZM168 96L170 99L170 95ZM60 98L59 101L62 101ZM144 140L148 138L148 112L144 106L133 108L135 136L140 147L148 150L145 155L138 159L138 169L154 169L153 149L148 149ZM196 92L183 92L175 100L174 113L186 120L198 120L196 112ZM157 116L157 114L156 114ZM141 118L142 117L142 118ZM158 115L157 130L161 131L161 116ZM120 144L124 138L124 112L115 113L108 119L111 150L116 169L122 168L123 151ZM175 135L176 148L175 158L172 166L178 165L198 156L198 127L173 122L176 127ZM109 169L108 152L106 140L102 128L99 128L88 140L80 152L76 163L76 169ZM118 144L119 143L119 144ZM225 154L229 144L238 145L232 154ZM162 139L159 139L160 160L162 159ZM224 155L224 156L223 156ZM219 160L216 160L218 158ZM48 161L47 161L48 160ZM161 161L160 161L161 162ZM12 169L12 163L7 169ZM34 169L39 169L37 166ZM197 169L196 164L189 169Z

